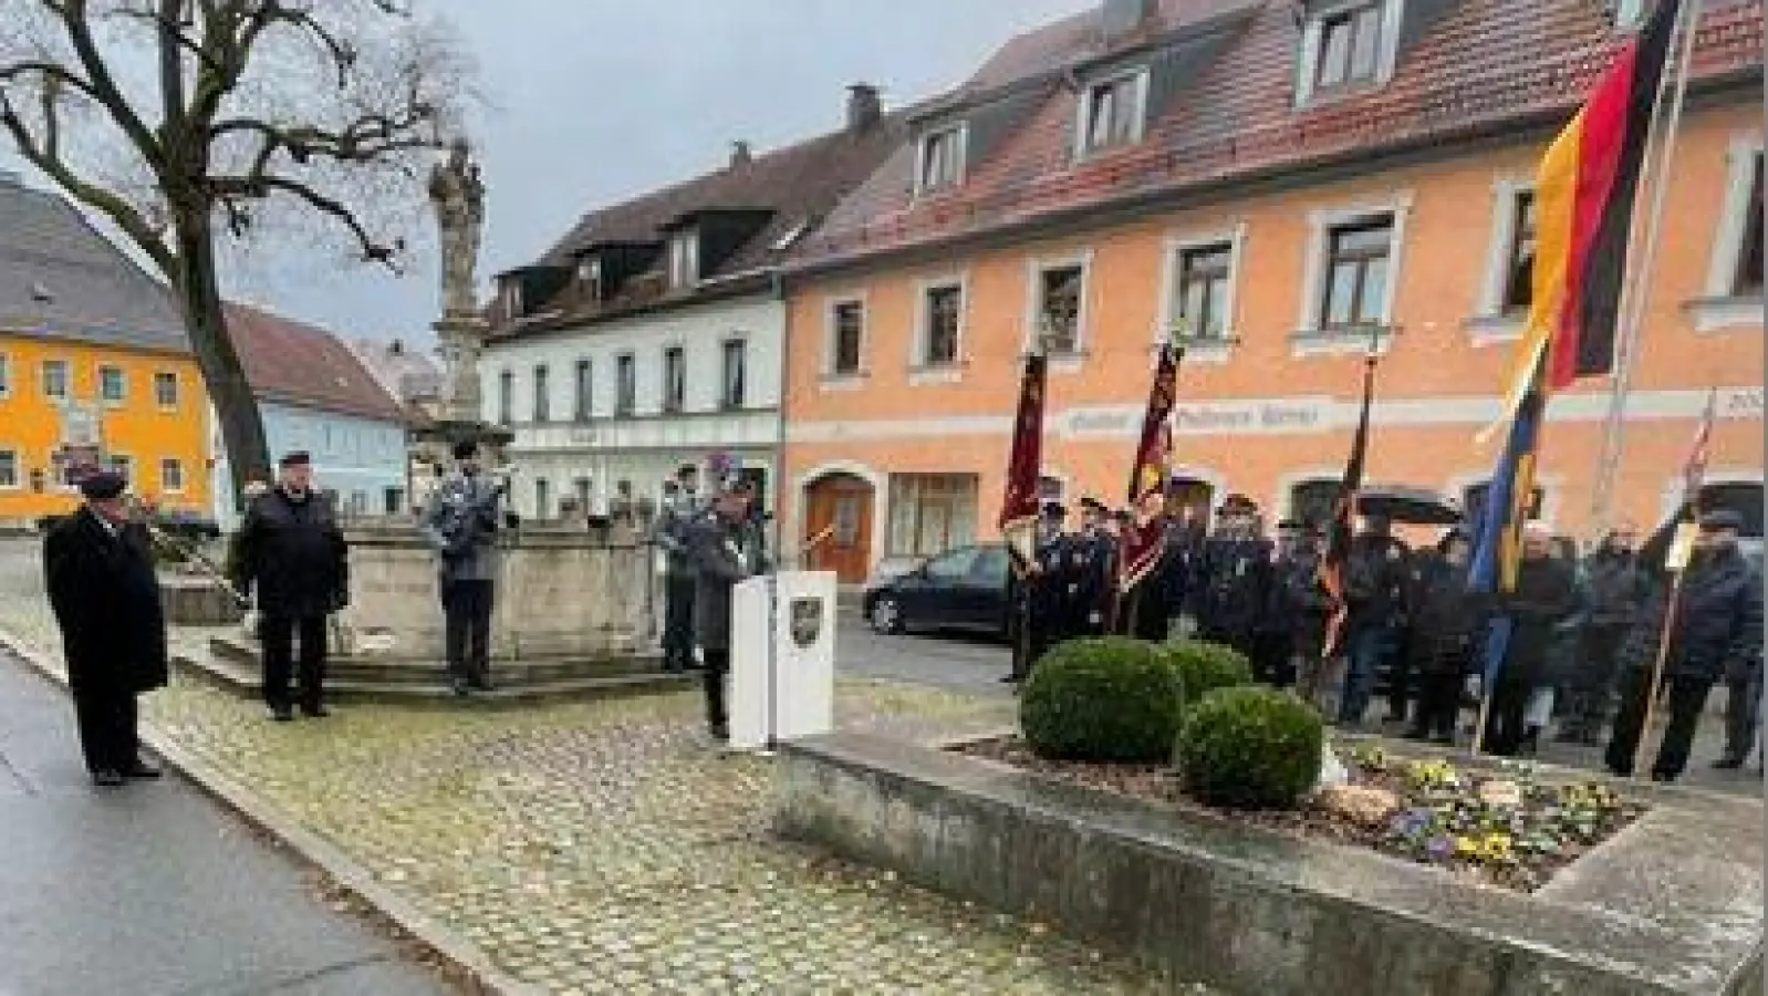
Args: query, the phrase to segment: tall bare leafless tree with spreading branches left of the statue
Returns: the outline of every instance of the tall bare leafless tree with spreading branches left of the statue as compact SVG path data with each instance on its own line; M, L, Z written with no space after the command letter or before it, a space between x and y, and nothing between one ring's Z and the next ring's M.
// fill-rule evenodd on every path
M226 333L217 241L320 221L398 271L472 67L408 0L0 0L0 127L164 274L235 495L269 474ZM302 226L306 228L306 226Z

